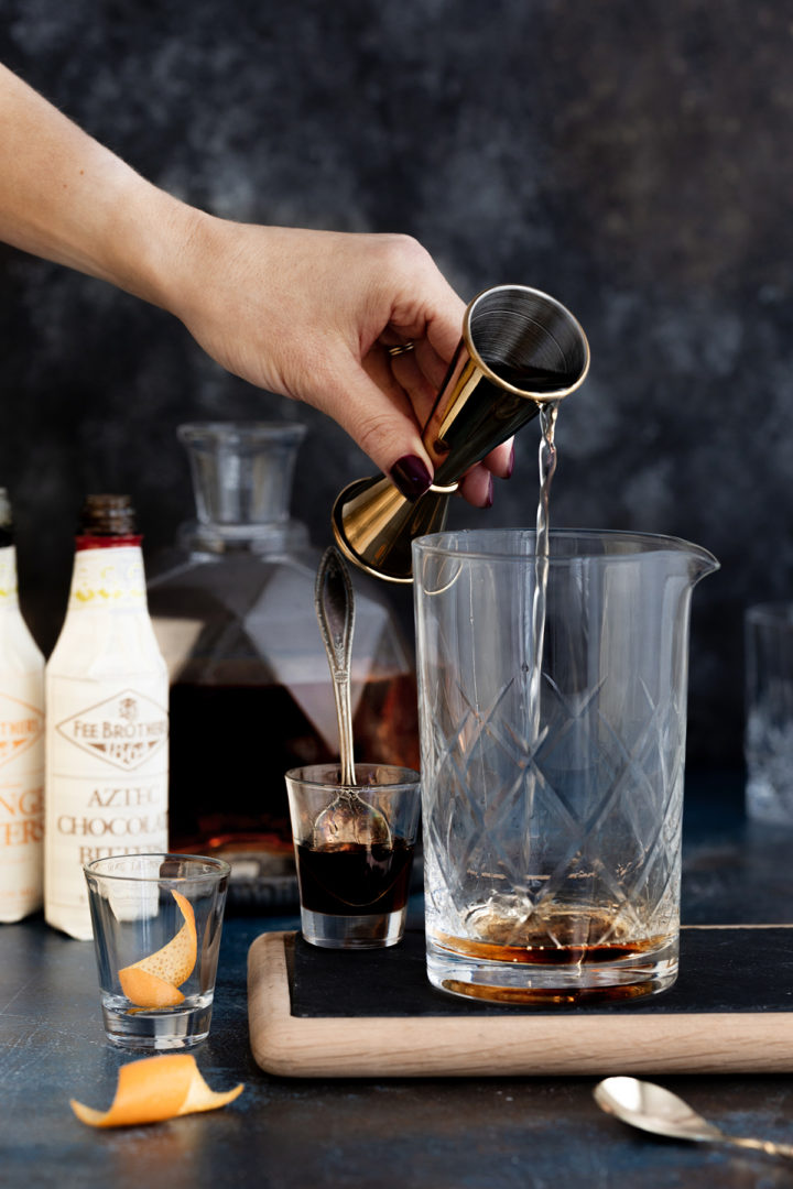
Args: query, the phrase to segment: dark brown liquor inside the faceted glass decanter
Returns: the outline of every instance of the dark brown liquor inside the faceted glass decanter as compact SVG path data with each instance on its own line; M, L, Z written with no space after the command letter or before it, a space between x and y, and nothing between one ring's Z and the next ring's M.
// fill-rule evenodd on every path
M172 850L292 855L284 773L334 759L284 686L181 684L170 693ZM411 675L367 682L355 759L418 767Z

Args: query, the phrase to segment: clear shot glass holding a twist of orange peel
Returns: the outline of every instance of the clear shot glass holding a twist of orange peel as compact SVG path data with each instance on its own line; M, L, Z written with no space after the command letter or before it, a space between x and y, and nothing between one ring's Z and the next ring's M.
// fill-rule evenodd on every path
M229 866L115 855L84 868L107 1039L191 1049L209 1034Z

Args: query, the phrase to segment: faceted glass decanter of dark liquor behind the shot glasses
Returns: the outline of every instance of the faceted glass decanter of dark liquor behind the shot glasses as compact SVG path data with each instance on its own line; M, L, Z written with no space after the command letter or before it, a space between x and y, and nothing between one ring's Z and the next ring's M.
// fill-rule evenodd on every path
M294 877L284 773L338 755L314 610L320 551L289 516L304 434L295 422L181 426L197 518L149 566L170 675L170 845L226 857L238 900L246 883L257 904ZM379 586L353 580L355 759L415 768L411 653Z

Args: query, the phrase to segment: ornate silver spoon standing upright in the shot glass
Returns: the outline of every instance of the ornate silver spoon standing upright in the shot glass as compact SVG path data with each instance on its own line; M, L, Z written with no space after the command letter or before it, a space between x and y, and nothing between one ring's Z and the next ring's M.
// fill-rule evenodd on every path
M334 545L325 551L314 587L314 606L328 654L339 724L341 789L314 823L314 843L354 842L371 847L391 844L389 824L379 810L355 792L352 707L350 704L350 662L355 625L355 599L345 560Z

